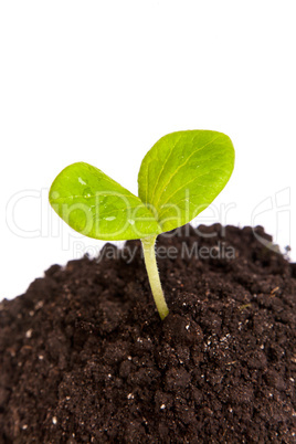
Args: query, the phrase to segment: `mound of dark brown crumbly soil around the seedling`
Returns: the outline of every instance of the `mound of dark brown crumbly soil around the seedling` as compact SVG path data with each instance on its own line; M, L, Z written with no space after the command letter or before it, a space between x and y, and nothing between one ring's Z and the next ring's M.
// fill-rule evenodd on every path
M1 303L1 442L296 442L296 266L251 228L200 230L159 237L179 251L158 261L163 323L139 242L131 263L108 244Z

